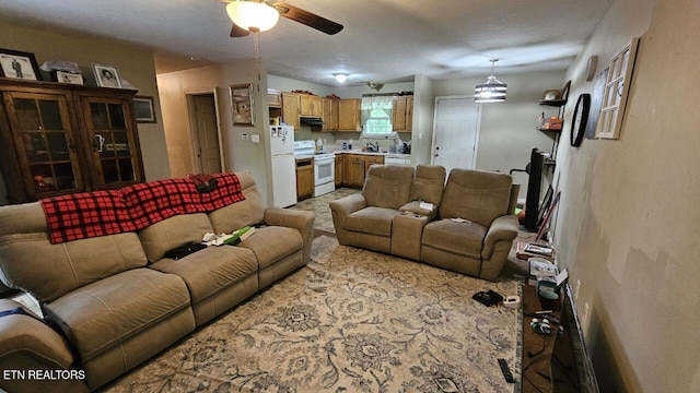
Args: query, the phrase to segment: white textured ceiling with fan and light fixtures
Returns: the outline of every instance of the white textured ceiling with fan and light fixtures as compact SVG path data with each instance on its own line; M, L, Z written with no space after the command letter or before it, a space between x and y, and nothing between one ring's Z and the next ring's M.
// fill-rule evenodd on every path
M280 19L259 35L270 74L324 85L564 70L614 0L287 0L345 25L328 36ZM0 2L12 23L70 29L152 48L159 72L254 56L253 36L230 38L214 0ZM195 59L195 61L190 60Z

